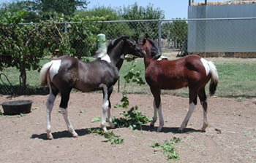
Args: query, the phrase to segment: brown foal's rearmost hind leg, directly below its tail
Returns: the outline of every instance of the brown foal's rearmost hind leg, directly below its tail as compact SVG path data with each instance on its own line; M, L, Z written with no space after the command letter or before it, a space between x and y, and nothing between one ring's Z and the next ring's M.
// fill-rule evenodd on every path
M207 97L206 97L206 91L204 88L202 88L198 94L200 98L200 103L203 106L203 127L201 129L201 132L206 132L206 127L208 127L208 120L207 120Z

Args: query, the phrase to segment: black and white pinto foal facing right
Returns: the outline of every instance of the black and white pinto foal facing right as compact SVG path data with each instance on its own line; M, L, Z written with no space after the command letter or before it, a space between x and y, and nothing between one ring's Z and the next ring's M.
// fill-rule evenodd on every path
M68 101L72 88L83 92L102 90L102 122L101 127L107 131L106 113L110 127L114 127L110 117L110 95L113 91L113 85L118 80L118 70L124 61L124 55L131 54L138 57L144 57L146 53L130 40L128 36L121 36L113 40L108 45L108 52L97 60L89 63L82 62L75 57L62 56L43 65L40 71L41 85L48 84L50 94L46 102L47 107L47 138L53 139L50 131L50 114L53 109L53 103L56 95L60 92L61 103L59 105L61 114L67 124L67 130L73 137L78 134L72 127L68 116Z

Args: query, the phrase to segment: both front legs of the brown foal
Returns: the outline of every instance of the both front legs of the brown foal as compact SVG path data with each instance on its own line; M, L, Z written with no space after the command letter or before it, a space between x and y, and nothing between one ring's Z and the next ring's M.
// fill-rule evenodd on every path
M151 88L151 92L154 96L154 102L153 102L154 117L150 125L154 126L154 123L157 121L157 111L158 111L159 127L157 129L157 132L160 132L162 130L162 127L164 126L164 118L162 117L161 90Z

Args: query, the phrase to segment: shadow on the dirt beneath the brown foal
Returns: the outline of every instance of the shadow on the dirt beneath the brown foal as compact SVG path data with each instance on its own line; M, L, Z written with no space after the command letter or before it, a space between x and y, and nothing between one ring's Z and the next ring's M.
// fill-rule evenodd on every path
M141 125L141 130L143 130L143 131L157 132L157 129L158 129L158 127ZM165 133L172 132L173 134L183 134L183 133L191 133L191 132L201 132L201 130L185 128L182 132L179 132L178 127L162 127L161 132L165 132Z

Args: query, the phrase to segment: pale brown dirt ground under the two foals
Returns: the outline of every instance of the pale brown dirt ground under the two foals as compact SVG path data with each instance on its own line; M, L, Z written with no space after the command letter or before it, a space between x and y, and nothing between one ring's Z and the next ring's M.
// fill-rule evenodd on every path
M52 113L53 140L46 139L47 95L8 98L0 95L0 103L8 100L33 100L32 110L26 116L0 116L0 162L256 162L256 99L210 98L206 132L199 132L203 124L203 109L197 105L187 129L178 133L178 127L187 114L188 99L162 95L165 126L143 125L143 130L111 129L124 139L124 143L111 145L103 137L88 132L99 127L91 119L102 114L102 95L99 93L72 93L69 117L78 132L72 138L64 119L59 114L60 97ZM137 105L143 114L153 116L151 95L128 95L130 106ZM112 104L121 94L113 93ZM84 111L80 113L80 110ZM122 108L112 108L112 116L119 117ZM1 108L1 112L3 112ZM158 121L156 123L158 126ZM161 151L149 147L153 142L164 143L176 136L180 159L165 158Z

